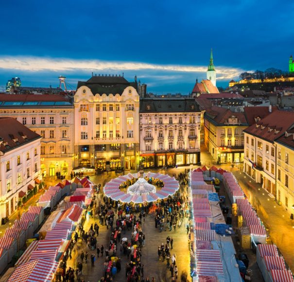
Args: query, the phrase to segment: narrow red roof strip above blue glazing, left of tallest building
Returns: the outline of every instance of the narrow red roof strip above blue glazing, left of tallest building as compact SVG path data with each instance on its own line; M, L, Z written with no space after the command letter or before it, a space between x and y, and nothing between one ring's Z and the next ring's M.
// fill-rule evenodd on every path
M68 101L61 95L54 94L2 94L0 93L0 101L50 101L50 102L58 102L58 101Z

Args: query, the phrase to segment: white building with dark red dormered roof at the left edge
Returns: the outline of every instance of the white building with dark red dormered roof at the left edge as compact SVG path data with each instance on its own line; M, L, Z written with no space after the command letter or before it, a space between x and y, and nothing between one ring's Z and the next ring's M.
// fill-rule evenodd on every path
M40 182L40 140L14 118L0 118L0 219Z

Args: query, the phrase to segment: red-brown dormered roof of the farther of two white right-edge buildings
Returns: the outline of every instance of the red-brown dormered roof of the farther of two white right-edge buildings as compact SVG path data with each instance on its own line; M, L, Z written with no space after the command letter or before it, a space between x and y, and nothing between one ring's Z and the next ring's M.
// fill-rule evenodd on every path
M275 141L281 137L287 129L294 126L294 112L275 110L259 122L259 127L252 124L244 132L258 136L264 140ZM278 128L269 131L269 127L277 126ZM277 129L279 130L277 133Z

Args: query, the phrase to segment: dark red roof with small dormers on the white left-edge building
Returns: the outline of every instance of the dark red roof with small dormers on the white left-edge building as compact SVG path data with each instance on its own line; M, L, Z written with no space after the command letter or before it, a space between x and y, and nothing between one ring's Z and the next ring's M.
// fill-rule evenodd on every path
M3 138L4 142L7 142L7 146L4 146L4 142L0 145L2 152L12 150L29 141L41 139L40 135L13 118L0 118L0 129L0 137ZM22 136L26 136L26 139Z

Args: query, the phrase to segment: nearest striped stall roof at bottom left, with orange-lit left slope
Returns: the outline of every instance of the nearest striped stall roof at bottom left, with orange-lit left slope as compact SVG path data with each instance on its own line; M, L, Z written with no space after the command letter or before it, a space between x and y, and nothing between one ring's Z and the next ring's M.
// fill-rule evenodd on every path
M50 282L58 264L45 259L22 264L12 273L8 282Z

